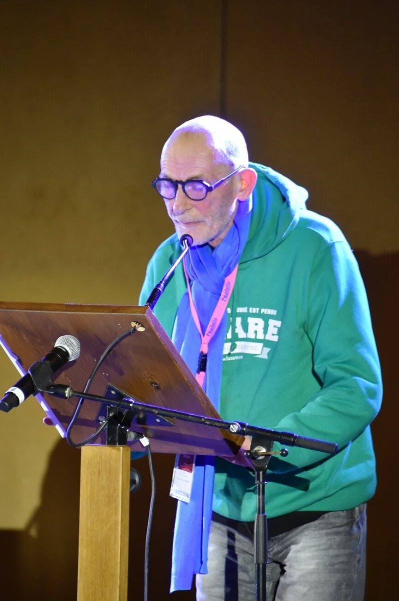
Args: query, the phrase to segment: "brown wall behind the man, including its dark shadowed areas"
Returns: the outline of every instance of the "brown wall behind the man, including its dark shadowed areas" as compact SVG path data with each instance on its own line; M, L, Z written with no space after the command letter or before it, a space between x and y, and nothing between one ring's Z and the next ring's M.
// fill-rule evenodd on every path
M394 590L392 492L398 201L397 3L3 0L0 251L3 301L134 304L172 227L149 182L170 131L220 114L253 160L310 191L356 251L385 379L374 424L368 598ZM17 379L0 355L0 389ZM0 415L3 599L74 598L79 451L32 399ZM131 498L129 599L142 596L143 487ZM172 457L156 458L150 598L166 596ZM161 515L162 514L162 515ZM382 574L384 581L382 581ZM41 592L40 592L41 591ZM193 599L193 593L176 593Z

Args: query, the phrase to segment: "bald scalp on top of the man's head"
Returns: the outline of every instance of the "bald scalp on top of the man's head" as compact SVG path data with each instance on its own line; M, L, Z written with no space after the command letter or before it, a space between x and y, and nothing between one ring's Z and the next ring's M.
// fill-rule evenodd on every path
M232 123L220 117L203 115L176 127L163 147L162 156L170 144L177 140L206 148L213 154L214 161L221 165L233 168L248 166L248 150L244 136Z

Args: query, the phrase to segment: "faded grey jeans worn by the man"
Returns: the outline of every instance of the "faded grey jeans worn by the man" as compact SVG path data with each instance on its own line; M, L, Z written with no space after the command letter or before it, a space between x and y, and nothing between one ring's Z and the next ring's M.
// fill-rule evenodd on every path
M269 539L267 601L362 601L366 507L331 511ZM212 522L208 574L197 575L197 601L252 601L253 540Z

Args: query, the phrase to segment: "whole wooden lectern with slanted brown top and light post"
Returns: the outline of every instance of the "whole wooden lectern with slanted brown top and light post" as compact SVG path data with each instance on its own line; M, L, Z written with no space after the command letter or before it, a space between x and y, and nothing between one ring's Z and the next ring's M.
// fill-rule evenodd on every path
M140 403L219 418L214 406L188 370L169 337L147 307L50 305L0 302L0 345L20 374L46 355L62 335L80 342L80 356L55 374L57 383L83 391L106 347L132 327L110 352L96 374L90 392L109 395L115 386ZM112 394L111 388L111 394ZM47 416L65 437L77 398L37 394ZM18 410L18 409L16 409ZM100 426L102 406L83 403L71 438L83 441ZM5 418L5 417L4 417ZM152 419L131 427L145 433L155 453L217 455L247 465L240 451L242 437L203 424ZM133 450L141 450L139 441ZM106 445L106 435L82 447L79 524L79 601L126 601L130 489L129 446Z

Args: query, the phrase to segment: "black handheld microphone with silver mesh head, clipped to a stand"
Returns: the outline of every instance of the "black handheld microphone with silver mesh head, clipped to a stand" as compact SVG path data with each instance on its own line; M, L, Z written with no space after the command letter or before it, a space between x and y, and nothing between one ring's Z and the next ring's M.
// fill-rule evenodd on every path
M46 386L52 381L52 375L68 361L74 361L80 355L80 343L77 338L67 334L56 340L55 346L41 361L36 361L29 367L28 373L18 382L8 388L0 400L0 411L8 413L18 407L25 398L40 391L41 385Z

